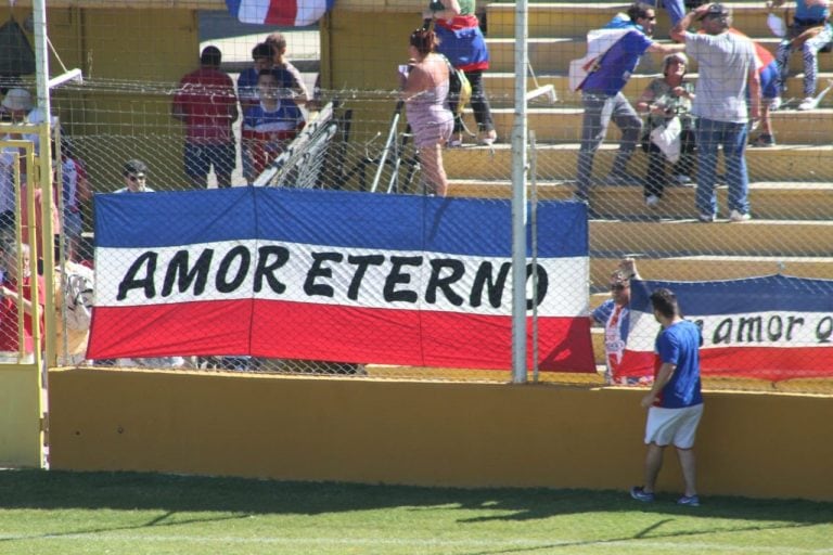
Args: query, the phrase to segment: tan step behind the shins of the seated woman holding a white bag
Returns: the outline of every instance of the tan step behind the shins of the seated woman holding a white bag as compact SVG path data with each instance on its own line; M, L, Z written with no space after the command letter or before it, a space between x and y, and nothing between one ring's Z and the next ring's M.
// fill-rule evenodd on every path
M503 135L507 140L507 135ZM606 176L618 145L611 141L603 144L595 156L593 175ZM499 179L512 175L511 145L495 144L492 147L465 146L446 149L444 165L452 179ZM576 177L578 143L542 144L536 149L536 167L539 181L572 180ZM812 181L833 182L833 145L789 145L770 149L748 149L746 162L752 181ZM636 176L645 175L648 156L638 151L629 170Z

